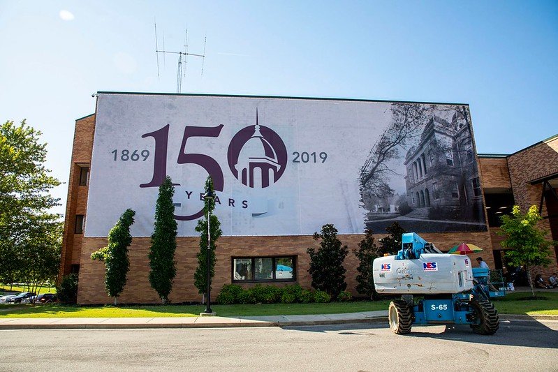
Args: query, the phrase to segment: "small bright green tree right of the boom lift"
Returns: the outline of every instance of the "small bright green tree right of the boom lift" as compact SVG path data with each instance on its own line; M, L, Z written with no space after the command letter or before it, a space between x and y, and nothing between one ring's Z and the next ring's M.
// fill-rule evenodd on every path
M557 245L558 241L547 240L548 232L537 227L541 215L535 205L531 205L526 214L522 214L520 207L514 205L511 216L501 216L501 221L497 234L506 236L501 242L501 246L510 249L506 252L506 260L511 265L525 265L531 295L534 297L531 269L534 266L548 266L550 246Z

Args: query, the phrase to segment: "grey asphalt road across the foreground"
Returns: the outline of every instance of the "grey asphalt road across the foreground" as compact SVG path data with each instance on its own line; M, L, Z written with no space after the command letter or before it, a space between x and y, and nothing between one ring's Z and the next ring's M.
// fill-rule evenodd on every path
M558 371L558 321L0 331L0 371Z

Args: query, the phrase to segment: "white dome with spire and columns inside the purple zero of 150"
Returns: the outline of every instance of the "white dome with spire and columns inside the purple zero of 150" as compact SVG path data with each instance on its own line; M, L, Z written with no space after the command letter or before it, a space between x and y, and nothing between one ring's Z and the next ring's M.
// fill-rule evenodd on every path
M272 144L260 133L258 112L254 134L242 146L235 170L242 184L251 188L265 188L274 184L281 165Z

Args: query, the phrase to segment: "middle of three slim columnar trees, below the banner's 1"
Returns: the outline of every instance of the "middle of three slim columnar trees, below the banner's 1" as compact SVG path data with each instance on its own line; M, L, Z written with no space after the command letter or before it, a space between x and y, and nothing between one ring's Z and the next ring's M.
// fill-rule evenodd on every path
M175 188L170 177L159 186L159 197L155 205L154 231L149 250L149 283L156 290L161 302L166 304L172 290L172 280L176 276L176 235L175 205L172 204Z

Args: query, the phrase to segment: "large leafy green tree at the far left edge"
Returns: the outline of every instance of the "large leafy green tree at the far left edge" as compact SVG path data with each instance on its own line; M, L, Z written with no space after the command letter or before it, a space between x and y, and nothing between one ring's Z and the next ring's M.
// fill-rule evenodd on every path
M59 205L50 189L60 182L45 168L41 132L6 121L0 125L0 281L43 280L59 263L60 218L48 213ZM34 260L45 263L40 273Z

